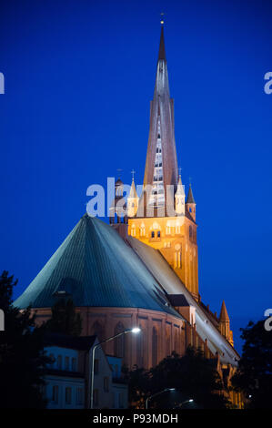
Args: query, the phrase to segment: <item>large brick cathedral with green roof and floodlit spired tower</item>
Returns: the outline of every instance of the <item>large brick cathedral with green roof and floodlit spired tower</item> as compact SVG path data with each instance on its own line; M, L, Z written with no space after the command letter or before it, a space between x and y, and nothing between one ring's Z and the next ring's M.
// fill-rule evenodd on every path
M178 172L163 23L143 191L137 194L133 178L124 204L123 187L118 178L109 224L86 213L15 306L31 305L42 322L58 299L72 299L84 336L96 334L103 341L140 327L139 334L104 345L128 368L148 369L191 345L214 360L228 386L239 355L225 302L217 316L198 290L196 200L191 185L185 194ZM240 406L240 397L232 394Z

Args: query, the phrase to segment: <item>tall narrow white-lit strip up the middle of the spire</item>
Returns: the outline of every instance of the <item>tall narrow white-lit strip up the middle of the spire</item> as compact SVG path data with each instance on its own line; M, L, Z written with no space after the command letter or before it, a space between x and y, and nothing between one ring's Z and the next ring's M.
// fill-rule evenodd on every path
M152 195L149 199L149 206L163 207L165 205L165 189L163 176L162 140L160 117L157 119L156 134L156 157L153 174Z

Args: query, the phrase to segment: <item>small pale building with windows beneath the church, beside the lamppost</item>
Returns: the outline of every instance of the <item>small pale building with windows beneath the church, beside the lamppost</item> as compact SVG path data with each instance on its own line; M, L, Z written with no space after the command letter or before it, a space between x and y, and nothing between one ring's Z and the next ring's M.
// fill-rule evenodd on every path
M91 399L92 351L96 336L71 337L50 333L45 352L51 358L45 373L48 409L88 409ZM102 348L96 348L94 408L127 407L127 386L121 382L120 359L112 367ZM116 366L118 372L116 374Z

